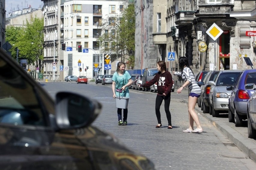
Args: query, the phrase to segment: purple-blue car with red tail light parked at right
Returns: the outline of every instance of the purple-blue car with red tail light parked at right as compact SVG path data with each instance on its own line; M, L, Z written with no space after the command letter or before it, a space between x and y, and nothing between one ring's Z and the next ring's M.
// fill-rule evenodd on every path
M255 91L245 88L250 83L256 84L256 69L243 71L230 94L228 121L235 122L236 127L242 126L242 120L247 119L247 102Z

